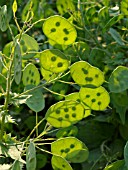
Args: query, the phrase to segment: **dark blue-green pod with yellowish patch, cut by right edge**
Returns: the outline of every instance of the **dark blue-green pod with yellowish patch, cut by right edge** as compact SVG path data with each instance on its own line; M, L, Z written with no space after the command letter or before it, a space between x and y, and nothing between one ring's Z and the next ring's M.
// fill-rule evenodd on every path
M109 89L111 92L119 93L128 89L128 68L118 66L109 78Z

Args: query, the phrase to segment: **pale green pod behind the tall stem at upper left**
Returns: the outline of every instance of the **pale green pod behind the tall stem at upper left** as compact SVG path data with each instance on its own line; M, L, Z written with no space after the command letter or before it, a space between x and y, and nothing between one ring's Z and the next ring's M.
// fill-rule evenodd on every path
M18 38L19 35L16 36L16 39ZM39 50L39 45L33 37L23 34L20 40L20 48L22 58L29 59L36 55L36 52Z

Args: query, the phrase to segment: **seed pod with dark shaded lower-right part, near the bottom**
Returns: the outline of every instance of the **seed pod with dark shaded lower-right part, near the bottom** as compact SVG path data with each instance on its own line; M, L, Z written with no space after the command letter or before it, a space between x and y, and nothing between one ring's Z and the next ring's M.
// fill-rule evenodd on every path
M89 155L88 148L75 137L60 138L52 142L51 152L75 163L84 162Z

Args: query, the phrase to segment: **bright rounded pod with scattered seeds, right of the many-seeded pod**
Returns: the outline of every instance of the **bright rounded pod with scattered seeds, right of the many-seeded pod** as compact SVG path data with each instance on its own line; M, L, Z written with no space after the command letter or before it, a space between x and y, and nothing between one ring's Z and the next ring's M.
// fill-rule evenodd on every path
M95 89L82 87L80 98L92 110L104 110L110 102L109 94L102 86Z

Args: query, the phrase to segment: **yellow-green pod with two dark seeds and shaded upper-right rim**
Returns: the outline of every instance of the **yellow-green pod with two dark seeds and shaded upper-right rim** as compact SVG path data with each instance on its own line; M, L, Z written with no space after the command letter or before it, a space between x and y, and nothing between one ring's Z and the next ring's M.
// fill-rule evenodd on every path
M60 73L68 69L69 60L56 49L44 50L40 53L41 66L51 72Z

